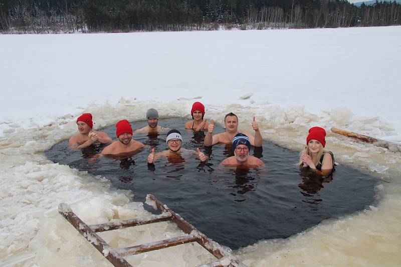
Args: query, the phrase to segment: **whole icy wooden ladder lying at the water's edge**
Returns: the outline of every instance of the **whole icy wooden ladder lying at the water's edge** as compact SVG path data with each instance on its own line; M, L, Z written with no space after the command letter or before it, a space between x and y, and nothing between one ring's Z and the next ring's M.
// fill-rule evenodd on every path
M217 261L209 264L201 265L203 267L218 267L218 266L232 266L232 267L246 267L238 258L233 256L223 247L208 238L205 234L197 230L194 226L184 220L178 213L175 213L165 204L160 202L156 197L151 194L146 196L146 202L152 204L161 214L151 215L145 218L136 218L123 220L119 222L109 222L101 224L88 225L83 222L71 209L67 203L59 204L59 213L61 213L94 247L97 248L114 266L128 267L131 264L124 258L124 256L139 254L147 251L166 248L169 246L198 242L205 247L210 253L218 258ZM165 240L134 245L129 247L114 248L111 247L106 241L103 240L96 232L109 231L114 229L121 229L125 227L132 227L136 225L143 225L148 223L160 221L173 221L185 234L182 236L172 237Z

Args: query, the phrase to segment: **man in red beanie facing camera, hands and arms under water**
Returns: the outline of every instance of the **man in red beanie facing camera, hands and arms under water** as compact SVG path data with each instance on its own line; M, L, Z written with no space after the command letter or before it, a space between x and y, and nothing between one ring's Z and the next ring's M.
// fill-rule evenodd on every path
M128 120L123 119L116 124L116 136L118 140L107 145L102 155L113 155L121 153L131 153L139 148L144 147L143 143L132 139L132 127Z

